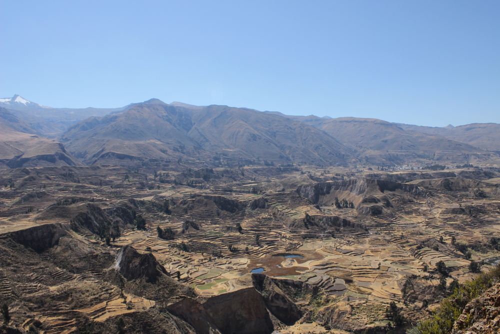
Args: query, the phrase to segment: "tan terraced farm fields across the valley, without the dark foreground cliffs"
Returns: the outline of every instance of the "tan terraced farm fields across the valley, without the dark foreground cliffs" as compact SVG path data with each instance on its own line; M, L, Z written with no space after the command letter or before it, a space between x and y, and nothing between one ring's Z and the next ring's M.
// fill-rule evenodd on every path
M100 284L107 292L95 303L73 307L71 316L105 322L147 311L158 303L153 297L109 285L109 267L118 250L130 245L138 254L152 254L166 275L198 296L238 291L253 273L308 284L320 291L320 302L295 297L305 314L313 314L311 321L325 324L321 319L333 312L353 329L384 326L390 302L407 318L425 316L425 307L444 293L438 288L439 263L449 286L476 275L472 262L486 260L487 266L499 256L488 246L500 238L500 196L491 184L480 184L486 193L481 197L474 195L477 183L467 188L459 179L453 179L453 190L443 188L442 179L398 183L342 169L323 172L322 178L297 171L269 178L248 168L237 181L224 173L203 186L188 186L174 170L170 183L146 182L152 173L112 166L3 172L1 181L14 187L0 192L2 235L61 223L72 238L100 250L85 260L85 270L59 261L47 276L32 267L29 282L15 288L2 269L2 298ZM340 174L343 179L335 180ZM105 260L98 255L103 249ZM50 328L47 333L62 333L76 326L71 316L40 312L21 326L39 320ZM303 328L309 324L304 321Z

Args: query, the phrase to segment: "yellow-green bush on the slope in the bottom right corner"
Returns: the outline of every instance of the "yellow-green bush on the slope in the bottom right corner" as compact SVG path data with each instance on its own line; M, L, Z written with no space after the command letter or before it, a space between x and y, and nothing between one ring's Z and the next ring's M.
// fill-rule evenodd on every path
M432 312L432 317L420 322L416 327L408 330L411 334L447 334L451 332L453 324L462 313L465 305L472 299L479 297L493 284L500 281L500 265L495 265L488 272L479 274L475 279L458 284L453 294L444 298L440 305ZM465 326L470 323L465 323Z

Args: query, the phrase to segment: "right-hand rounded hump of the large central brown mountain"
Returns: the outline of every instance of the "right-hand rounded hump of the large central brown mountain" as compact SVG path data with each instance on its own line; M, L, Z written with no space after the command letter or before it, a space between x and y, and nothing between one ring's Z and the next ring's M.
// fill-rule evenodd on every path
M350 149L300 122L257 111L208 106L192 113L191 138L208 150L238 150L250 157L281 161L342 163Z

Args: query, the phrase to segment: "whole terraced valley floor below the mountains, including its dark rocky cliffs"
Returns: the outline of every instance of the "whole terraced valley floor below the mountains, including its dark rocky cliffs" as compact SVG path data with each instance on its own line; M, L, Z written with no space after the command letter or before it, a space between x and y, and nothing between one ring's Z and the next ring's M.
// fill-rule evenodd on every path
M500 256L494 179L295 167L0 171L9 326L402 332Z

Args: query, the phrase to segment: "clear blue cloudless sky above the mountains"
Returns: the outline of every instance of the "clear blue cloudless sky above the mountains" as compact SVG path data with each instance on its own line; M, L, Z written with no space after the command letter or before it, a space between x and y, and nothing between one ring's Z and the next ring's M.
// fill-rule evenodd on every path
M500 123L500 2L0 1L0 97Z

